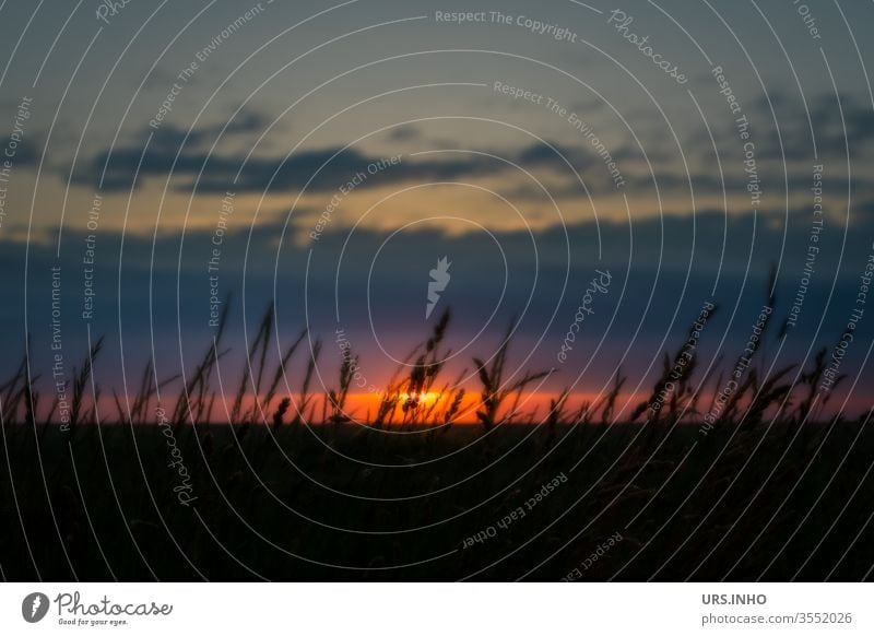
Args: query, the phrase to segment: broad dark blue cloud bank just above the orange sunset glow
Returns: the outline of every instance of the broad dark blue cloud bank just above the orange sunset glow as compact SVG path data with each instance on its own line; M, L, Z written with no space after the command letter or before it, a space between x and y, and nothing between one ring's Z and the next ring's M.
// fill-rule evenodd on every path
M245 349L238 305L244 280L250 322L277 294L283 340L305 323L312 328L314 338L331 337L336 323L333 304L336 285L341 322L356 351L362 352L368 376L374 376L373 381L381 381L380 374L393 366L374 342L374 331L382 337L383 346L391 353L403 356L408 345L427 331L423 307L428 272L437 259L447 256L452 261L452 283L441 301L453 309L452 338L460 344L475 339L496 310L493 327L485 329L482 340L474 341L470 355L487 351L488 339L510 317L521 316L515 354L534 350L529 366L548 367L556 343L560 343L563 330L572 320L579 295L594 269L609 269L615 276L615 287L580 335L580 346L576 350L579 357L574 358L580 366L606 334L606 349L599 354L595 366L609 375L639 327L634 355L624 363L624 368L633 375L642 372L649 360L661 355L663 338L668 339L665 346L676 344L688 318L710 297L714 285L714 297L723 305L723 311L719 322L708 327L713 333L708 333L706 346L708 353L712 352L722 331L729 329L727 346L729 354L734 355L748 337L751 321L764 301L771 263L781 263L777 309L780 319L796 295L804 273L810 225L793 219L800 219L804 212L791 211L789 226L781 214L763 214L754 221L751 214L727 217L720 211L704 211L695 219L677 215L636 220L630 227L602 221L600 231L592 222L583 222L567 227L569 246L562 228L535 233L533 243L525 232L494 232L500 249L482 233L448 236L437 228L403 233L388 243L382 232L359 229L345 248L347 231L329 229L311 245L288 240L280 244L276 237L281 234L281 222L272 222L252 229L245 262L248 228L229 231L224 236L218 272L220 296L224 298L233 292L237 298L227 342L233 355ZM839 333L846 323L848 313L854 307L859 275L871 251L872 233L874 216L860 216L842 245L843 227L829 222L819 244L822 251L794 332L795 340L788 350L793 355L811 344L807 340L824 315L817 346ZM139 369L151 355L150 339L143 334L154 333L162 376L180 370L177 368L180 346L187 363L189 357L202 354L210 335L206 322L211 286L205 262L212 249L211 236L209 231L187 232L181 258L178 235L158 236L154 245L151 237L127 236L119 272L118 259L110 256L120 254L121 237L108 231L101 233L99 255L104 256L98 255L94 274L97 298L92 332L106 334L109 343L101 368L106 374L101 379L105 387L114 387L119 377L113 366L120 360L120 352L113 351L113 343L118 343L119 337L125 342L126 364ZM602 260L598 258L599 237ZM83 238L72 232L66 235L70 245L81 245ZM11 299L0 307L0 319L8 327L0 334L0 346L5 351L20 349L24 329L21 310L24 250L24 243L0 240L0 268L9 273L4 294ZM29 250L32 285L48 284L52 264L60 264L64 272L64 351L75 360L86 349L84 325L79 320L83 303L81 252L64 249L58 261L51 244L32 244ZM507 270L501 251L507 258ZM623 294L626 275L628 282ZM836 276L837 287L829 301ZM177 290L182 293L177 295ZM34 323L50 313L49 294L31 294L27 303ZM735 303L735 319L729 328ZM546 335L538 344L544 331ZM49 368L50 333L44 329L32 330L32 334L34 368ZM858 360L857 354L862 353L860 346L851 356ZM845 365L852 368L854 363L849 360ZM462 362L469 364L469 356ZM339 356L326 353L323 364L330 377L335 377L338 363ZM0 372L4 372L2 367L0 364ZM574 368L577 367L565 367L565 373ZM567 381L568 376L559 380Z

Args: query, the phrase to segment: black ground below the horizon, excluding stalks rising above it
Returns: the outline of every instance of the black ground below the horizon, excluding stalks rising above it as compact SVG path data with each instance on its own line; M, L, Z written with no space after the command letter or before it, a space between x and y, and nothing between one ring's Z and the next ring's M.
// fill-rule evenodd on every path
M872 578L867 426L668 428L7 426L0 567L5 580Z

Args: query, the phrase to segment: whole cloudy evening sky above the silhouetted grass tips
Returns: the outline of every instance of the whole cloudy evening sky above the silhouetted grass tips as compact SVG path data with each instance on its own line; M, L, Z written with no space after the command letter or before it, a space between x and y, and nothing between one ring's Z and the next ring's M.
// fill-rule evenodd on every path
M866 4L109 4L0 5L2 375L29 339L47 378L59 327L67 379L99 335L119 393L150 358L189 373L231 295L225 373L275 299L272 355L308 328L332 388L342 329L381 387L439 316L441 258L449 367L518 320L513 370L554 369L544 394L619 367L646 393L708 301L699 355L733 360L771 268L777 320L796 305L771 368L864 308ZM869 314L840 366L855 411Z

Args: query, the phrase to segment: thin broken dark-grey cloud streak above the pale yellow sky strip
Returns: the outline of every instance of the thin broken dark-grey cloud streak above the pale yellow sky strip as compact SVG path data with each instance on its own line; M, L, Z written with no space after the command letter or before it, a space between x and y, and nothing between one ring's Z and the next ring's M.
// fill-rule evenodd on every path
M783 186L783 165L787 160L787 172L791 191L806 191L810 187L813 152L810 139L810 127L802 107L783 92L775 91L771 102L777 109L781 137L772 123L768 104L759 98L751 101L747 108L751 121L754 122L756 155L759 160L759 172L769 186L769 191L781 191ZM810 101L811 118L816 130L817 149L820 158L839 157L845 153L843 128L837 102L832 96L819 95ZM850 139L851 152L867 152L869 142L874 140L874 114L859 101L841 95L843 122ZM659 126L654 120L645 119L647 127ZM770 126L768 123L770 122ZM729 195L742 195L746 182L744 175L733 166L741 161L741 144L736 130L731 122L714 126L717 148L725 173L725 187ZM258 133L270 125L270 118L258 111L244 114L231 121L224 136L245 137ZM180 191L196 193L215 193L226 190L236 192L261 193L295 192L307 188L310 192L332 192L346 184L358 172L365 172L371 163L385 157L367 153L359 149L328 146L296 152L292 156L256 153L244 165L244 154L233 153L223 148L212 155L206 151L222 132L222 123L198 127L186 138L184 129L165 125L154 133L152 142L143 153L142 146L133 144L106 149L92 158L85 170L79 170L75 179L94 186L103 179L104 190L128 190L133 184L133 175L139 167L139 180L161 178L172 179L172 185ZM652 137L652 136L650 136ZM405 127L391 133L390 141L403 142L421 138L421 130ZM185 142L185 145L182 145ZM782 143L782 152L781 152ZM615 188L605 177L601 158L592 148L582 141L575 143L554 143L555 149L564 155L570 166L587 181L589 191L595 196L613 193ZM657 170L658 186L663 193L688 193L688 179L677 150L670 143L652 143L643 149L647 157ZM683 140L683 151L692 169L692 181L698 196L721 196L722 184L717 173L717 165L709 137L702 127L689 129ZM579 196L576 176L555 150L532 143L515 150L484 149L484 152L503 156L525 169L552 173L555 186L565 181L564 189L553 190L556 196ZM177 158L178 154L178 158ZM625 177L629 188L641 187L645 191L652 188L652 178L640 149L628 143L617 144L611 150L614 161ZM142 163L141 163L142 158ZM141 164L140 164L141 163ZM827 170L829 186L831 179L838 186L835 192L846 191L846 181L838 174L840 166ZM202 176L198 179L198 175ZM873 175L865 170L854 170L854 186L861 189L864 197L874 192ZM405 156L403 161L390 169L380 170L378 178L368 178L361 189L383 187L410 182L429 182L445 180L471 180L480 177L507 176L511 167L504 162L495 161L483 154L433 153L418 156ZM139 185L139 184L138 184ZM523 185L508 180L506 191L521 191ZM801 190L799 189L801 188ZM538 193L538 197L540 195ZM776 200L776 199L775 199Z

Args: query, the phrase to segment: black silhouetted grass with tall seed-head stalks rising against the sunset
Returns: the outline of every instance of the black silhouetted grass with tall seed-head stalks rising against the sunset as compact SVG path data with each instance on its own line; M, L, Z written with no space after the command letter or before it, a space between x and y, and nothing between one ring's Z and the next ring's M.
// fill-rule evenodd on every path
M617 369L593 401L570 407L565 388L536 419L519 405L550 372L508 374L513 322L489 360L471 361L472 407L466 369L444 377L447 311L399 365L376 413L353 422L358 356L344 352L336 386L314 392L321 341L300 360L309 342L302 331L273 360L271 305L248 349L231 423L215 426L228 305L185 381L158 381L150 361L130 400L114 391L114 425L97 416L92 387L102 340L74 375L69 435L47 423L57 403L38 422L39 377L26 355L0 385L10 476L0 480L4 577L557 580L617 531L624 540L583 579L870 576L874 435L867 416L823 422L828 349L804 369L775 367L764 349L754 352L756 364L704 432L702 413L731 367L720 368L718 356L701 369L697 351L658 412L651 404L680 352L665 353L648 399L627 416L619 401L627 378ZM288 390L294 365L303 379ZM143 425L156 423L157 396L177 385L168 420L191 475L191 507L174 495L166 433ZM476 425L459 424L465 411ZM523 521L462 547L559 473L568 483Z

